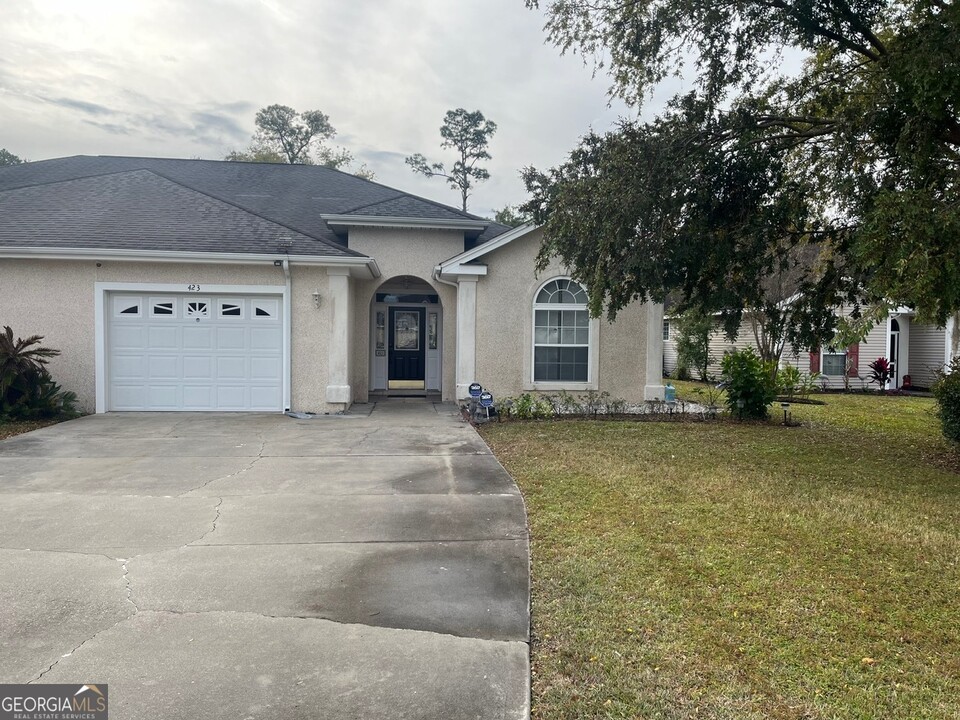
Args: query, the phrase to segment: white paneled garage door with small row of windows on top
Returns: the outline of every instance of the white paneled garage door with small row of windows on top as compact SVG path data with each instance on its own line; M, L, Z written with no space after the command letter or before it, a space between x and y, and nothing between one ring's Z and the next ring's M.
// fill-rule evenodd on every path
M109 298L109 410L282 410L279 296Z

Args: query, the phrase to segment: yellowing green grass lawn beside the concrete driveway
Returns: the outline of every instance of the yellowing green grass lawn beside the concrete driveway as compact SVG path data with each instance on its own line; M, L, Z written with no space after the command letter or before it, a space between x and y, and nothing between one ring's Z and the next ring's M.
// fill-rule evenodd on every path
M530 516L535 718L960 718L933 401L819 397L801 427L483 429Z

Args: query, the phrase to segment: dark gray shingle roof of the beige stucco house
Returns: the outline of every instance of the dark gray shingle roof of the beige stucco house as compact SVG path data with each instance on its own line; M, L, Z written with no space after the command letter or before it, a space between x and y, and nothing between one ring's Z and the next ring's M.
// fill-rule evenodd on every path
M350 213L480 219L317 166L75 156L0 168L0 245L6 246L52 246L59 233L56 242L70 244L58 247L262 252L253 248L286 233L299 254L357 256L321 217ZM508 229L490 223L472 244Z

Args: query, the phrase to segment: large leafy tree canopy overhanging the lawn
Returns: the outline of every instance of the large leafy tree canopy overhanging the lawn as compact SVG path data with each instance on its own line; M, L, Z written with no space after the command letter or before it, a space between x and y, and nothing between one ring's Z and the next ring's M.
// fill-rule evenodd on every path
M733 329L744 310L776 315L767 291L783 277L799 293L795 344L829 340L842 301L940 324L960 310L955 2L545 6L550 40L593 58L626 101L674 73L691 81L656 119L525 171L541 259L566 262L595 312L676 292L680 310Z

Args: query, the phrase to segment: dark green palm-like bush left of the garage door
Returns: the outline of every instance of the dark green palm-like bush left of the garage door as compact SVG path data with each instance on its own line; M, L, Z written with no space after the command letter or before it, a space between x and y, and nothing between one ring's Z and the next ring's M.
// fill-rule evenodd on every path
M76 393L64 390L45 367L59 350L40 346L43 337L13 339L0 333L0 421L45 420L79 415Z

